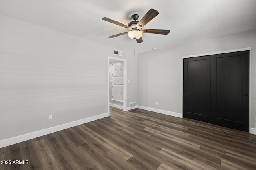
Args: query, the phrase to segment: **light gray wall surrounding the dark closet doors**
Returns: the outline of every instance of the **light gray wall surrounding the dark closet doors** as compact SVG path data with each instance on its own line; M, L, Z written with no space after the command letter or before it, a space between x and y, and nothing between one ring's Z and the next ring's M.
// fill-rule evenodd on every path
M138 54L137 105L182 113L182 56L251 47L251 127L254 128L255 37L255 30L251 30Z

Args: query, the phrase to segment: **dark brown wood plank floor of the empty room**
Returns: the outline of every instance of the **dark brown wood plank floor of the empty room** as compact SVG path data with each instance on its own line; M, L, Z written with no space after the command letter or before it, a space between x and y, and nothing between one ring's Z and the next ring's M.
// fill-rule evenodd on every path
M111 107L110 117L1 148L0 160L24 160L0 170L252 170L256 135Z

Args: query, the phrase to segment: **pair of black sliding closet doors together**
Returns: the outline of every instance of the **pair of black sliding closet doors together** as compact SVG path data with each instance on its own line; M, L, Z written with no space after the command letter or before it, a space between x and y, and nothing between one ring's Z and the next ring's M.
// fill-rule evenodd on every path
M183 116L249 131L249 51L183 59Z

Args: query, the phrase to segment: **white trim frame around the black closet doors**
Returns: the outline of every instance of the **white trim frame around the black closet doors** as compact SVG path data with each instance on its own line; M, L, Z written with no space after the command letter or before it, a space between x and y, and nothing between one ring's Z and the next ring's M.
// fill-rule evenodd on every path
M249 50L249 94L251 93L251 79L252 79L252 66L251 66L251 47L247 47L247 48L242 48L242 49L233 49L233 50L226 50L226 51L217 51L217 52L212 52L212 53L203 53L203 54L196 54L196 55L187 55L187 56L182 56L182 63L183 63L183 59L185 58L192 58L192 57L200 57L200 56L205 56L205 55L215 55L215 54L222 54L222 53L231 53L231 52L238 52L238 51L246 51ZM183 75L183 69L182 69L182 75ZM182 84L181 86L183 87L183 79L182 79ZM183 117L183 88L182 88L182 92L181 92L181 110L182 110L182 117ZM251 105L252 104L252 95L249 95L249 133L254 134L253 130L251 129Z

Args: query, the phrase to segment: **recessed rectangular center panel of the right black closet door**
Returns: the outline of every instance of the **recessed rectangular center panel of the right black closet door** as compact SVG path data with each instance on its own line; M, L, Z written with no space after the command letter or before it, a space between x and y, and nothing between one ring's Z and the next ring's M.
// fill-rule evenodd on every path
M216 118L218 119L232 121L242 119L242 68L240 56L216 58Z

